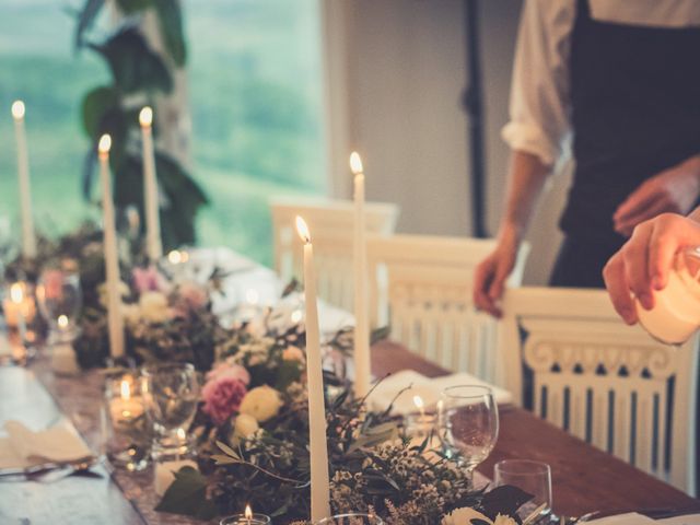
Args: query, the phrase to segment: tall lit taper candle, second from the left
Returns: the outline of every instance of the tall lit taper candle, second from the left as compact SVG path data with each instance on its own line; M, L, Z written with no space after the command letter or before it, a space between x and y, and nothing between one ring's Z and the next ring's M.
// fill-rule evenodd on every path
M104 253L107 284L107 324L109 328L109 353L113 358L124 357L124 319L121 317L121 294L119 292L119 256L117 253L117 231L115 228L114 201L112 200L112 175L109 173L109 149L112 138L103 135L100 139L100 178L102 180L102 210L104 213Z

